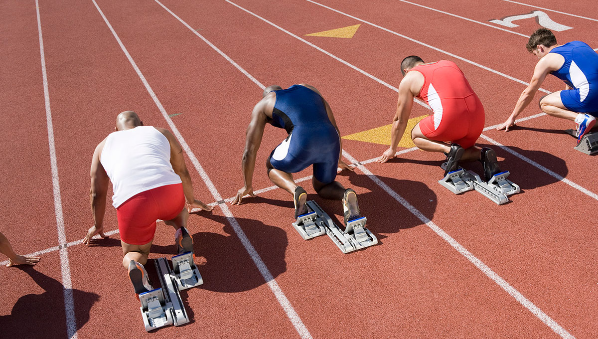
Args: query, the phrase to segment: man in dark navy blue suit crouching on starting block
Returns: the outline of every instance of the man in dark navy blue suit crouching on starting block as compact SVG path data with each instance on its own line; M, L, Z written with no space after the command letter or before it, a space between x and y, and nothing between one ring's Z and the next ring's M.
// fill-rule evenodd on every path
M263 99L255 105L246 132L243 152L245 186L237 192L232 204L240 204L246 194L255 196L252 188L255 156L266 123L288 133L286 139L271 152L266 166L270 180L293 195L295 219L307 212L307 193L295 184L291 173L300 172L312 164L312 184L318 195L343 200L345 225L358 218L355 191L334 181L337 167L348 170L353 170L353 167L340 160L340 132L332 110L322 94L307 84L292 85L286 90L272 85L264 90Z

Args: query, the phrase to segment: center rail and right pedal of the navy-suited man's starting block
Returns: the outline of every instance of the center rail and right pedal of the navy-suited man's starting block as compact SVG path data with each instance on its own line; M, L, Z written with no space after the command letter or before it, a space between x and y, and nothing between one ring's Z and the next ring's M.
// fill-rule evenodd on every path
M325 228L328 237L332 239L344 254L366 248L378 243L378 239L365 228L365 216L350 221L345 231L342 231L316 201L307 201L307 206L318 215L316 221Z

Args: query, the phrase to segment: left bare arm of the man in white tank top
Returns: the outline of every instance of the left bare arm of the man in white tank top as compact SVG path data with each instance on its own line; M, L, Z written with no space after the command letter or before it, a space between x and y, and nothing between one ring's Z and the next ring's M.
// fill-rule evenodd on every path
M93 216L93 226L87 231L87 236L83 239L85 245L89 245L91 237L100 234L105 238L103 231L104 213L106 212L106 194L108 193L109 178L100 163L100 155L106 143L106 139L97 145L91 158L91 188L89 190L89 201L91 205L91 215Z

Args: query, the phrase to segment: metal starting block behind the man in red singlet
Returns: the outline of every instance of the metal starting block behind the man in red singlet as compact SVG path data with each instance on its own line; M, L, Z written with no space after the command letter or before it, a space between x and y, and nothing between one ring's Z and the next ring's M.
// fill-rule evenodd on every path
M490 178L490 181L483 181L477 173L462 168L450 172L438 183L448 188L454 194L476 190L483 196L494 201L496 204L504 204L509 201L508 196L519 193L521 188L507 179L509 172L501 172Z

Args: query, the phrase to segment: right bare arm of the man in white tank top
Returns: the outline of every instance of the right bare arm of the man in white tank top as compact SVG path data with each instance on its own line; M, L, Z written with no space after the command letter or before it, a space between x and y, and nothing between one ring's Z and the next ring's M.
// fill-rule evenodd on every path
M193 195L193 183L191 182L191 176L187 170L187 164L185 164L185 157L183 156L183 148L175 136L170 133L167 129L156 128L162 133L168 142L170 143L170 164L172 169L178 176L181 177L183 183L183 193L185 194L185 202L187 203L187 209L191 212L191 209L199 208L202 210L212 210L212 206L208 206L202 201L197 200Z

